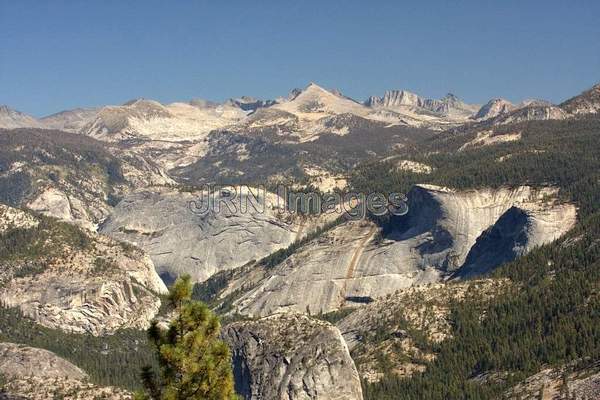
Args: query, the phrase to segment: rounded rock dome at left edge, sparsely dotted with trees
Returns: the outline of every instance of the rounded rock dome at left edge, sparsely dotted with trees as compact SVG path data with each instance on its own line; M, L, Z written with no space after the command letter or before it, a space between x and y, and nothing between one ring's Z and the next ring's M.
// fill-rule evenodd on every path
M93 335L143 329L158 312L166 287L141 250L3 205L0 216L7 216L0 235L19 240L0 255L5 306L50 328Z

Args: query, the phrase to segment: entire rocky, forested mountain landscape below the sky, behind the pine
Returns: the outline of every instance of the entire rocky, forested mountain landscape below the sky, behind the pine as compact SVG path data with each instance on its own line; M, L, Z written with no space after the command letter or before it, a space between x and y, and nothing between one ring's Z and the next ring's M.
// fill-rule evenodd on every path
M598 398L599 111L600 85L2 106L0 398L130 398L183 274L245 400ZM195 213L229 198L207 183L267 208ZM278 184L408 209L292 212Z

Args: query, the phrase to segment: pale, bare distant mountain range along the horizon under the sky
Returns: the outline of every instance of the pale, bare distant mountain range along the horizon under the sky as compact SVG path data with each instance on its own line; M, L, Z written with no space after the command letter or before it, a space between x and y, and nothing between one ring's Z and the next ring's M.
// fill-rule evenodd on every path
M515 114L509 120L555 119L558 118L559 109L565 112L565 116L597 112L598 91L596 85L559 106L540 100L511 104L499 98L481 106L467 104L451 93L438 100L427 99L406 90L389 90L382 97L371 96L364 102L358 102L337 90L326 90L311 83L306 88L294 89L288 97L277 100L243 96L222 104L192 100L163 105L153 100L136 99L120 106L78 108L39 119L4 105L0 107L0 128L60 129L119 140L137 136L179 140L250 121L253 126L285 125L297 120L316 123L324 117L352 114L388 124L441 129L471 120L483 121L515 114L522 109L555 112L525 112L521 116ZM269 113L266 118L253 116L258 110L268 110ZM269 120L271 114L278 118Z

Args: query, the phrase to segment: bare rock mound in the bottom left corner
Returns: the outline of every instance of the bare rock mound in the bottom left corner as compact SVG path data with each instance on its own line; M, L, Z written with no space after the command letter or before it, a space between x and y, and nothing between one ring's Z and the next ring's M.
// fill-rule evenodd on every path
M0 374L7 382L0 399L131 398L122 389L89 383L84 371L52 352L24 345L0 343Z

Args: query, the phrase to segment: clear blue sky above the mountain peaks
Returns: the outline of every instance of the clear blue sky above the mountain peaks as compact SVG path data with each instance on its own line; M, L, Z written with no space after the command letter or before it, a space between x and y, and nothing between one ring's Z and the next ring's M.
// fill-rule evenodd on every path
M0 104L274 98L314 81L482 103L600 81L600 1L0 0Z

